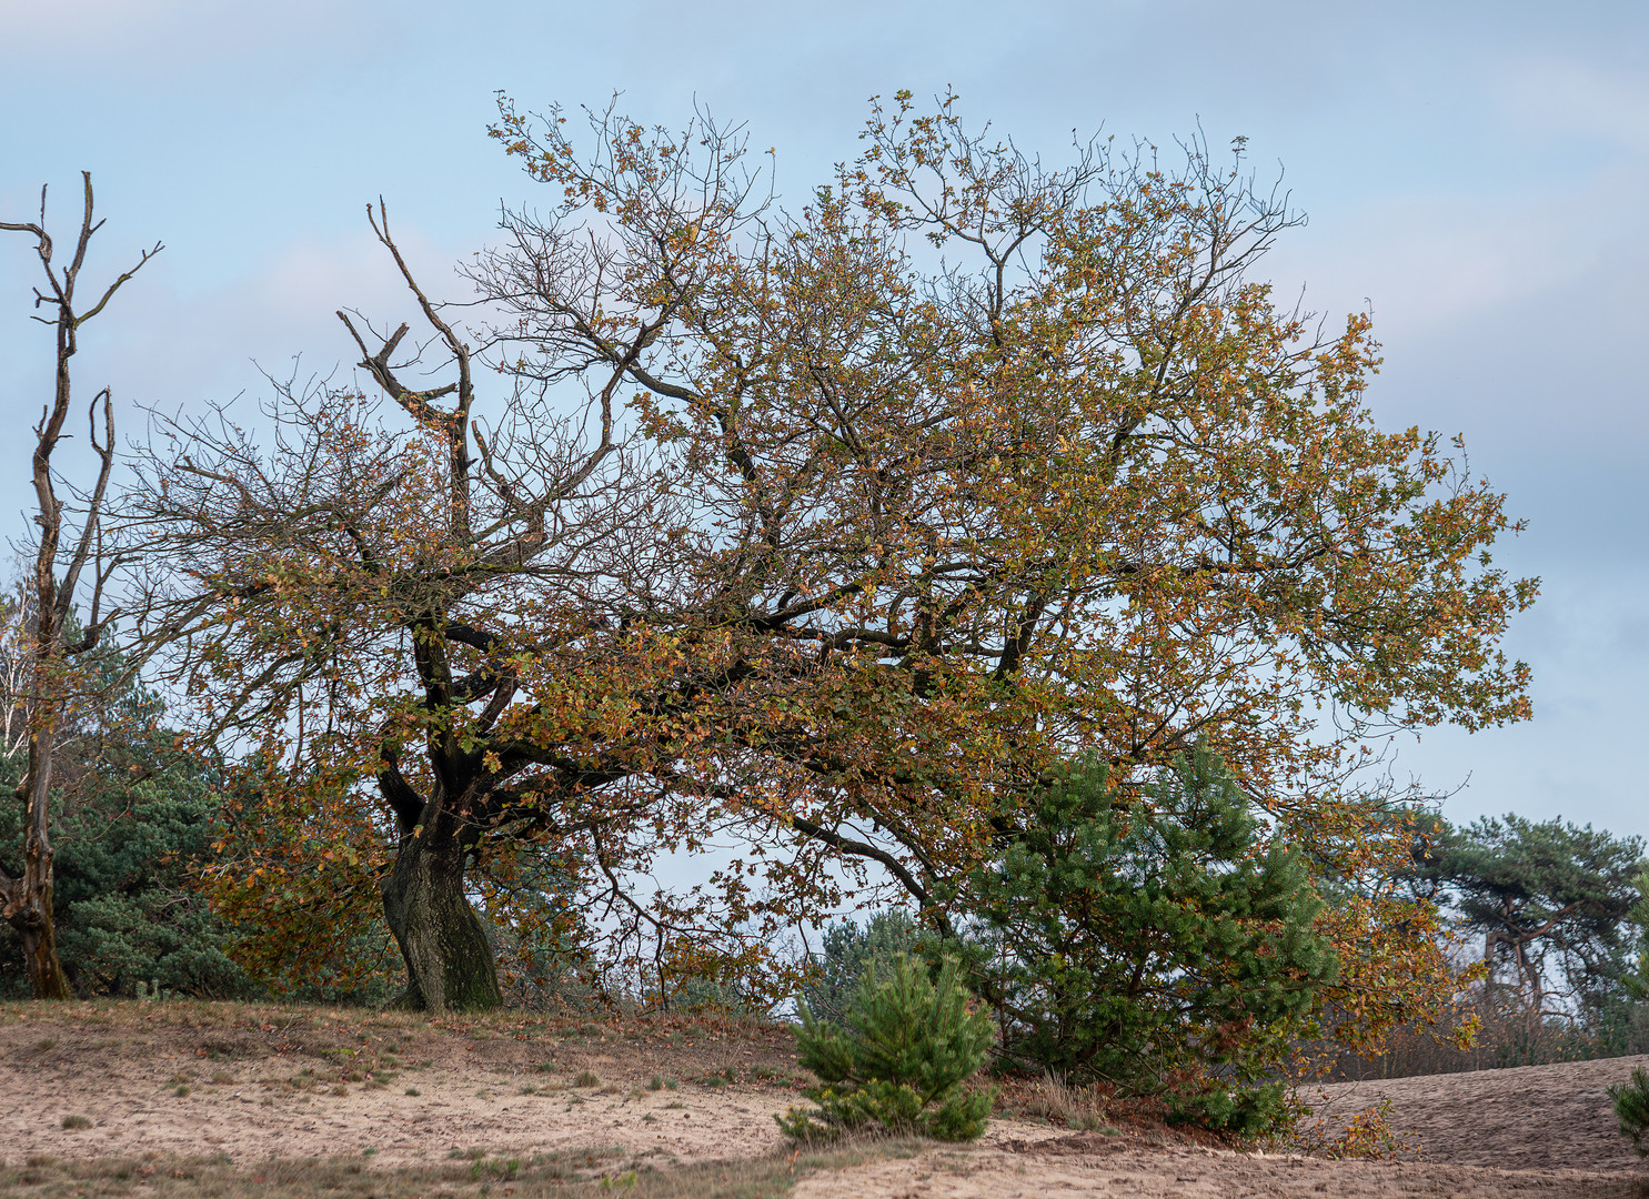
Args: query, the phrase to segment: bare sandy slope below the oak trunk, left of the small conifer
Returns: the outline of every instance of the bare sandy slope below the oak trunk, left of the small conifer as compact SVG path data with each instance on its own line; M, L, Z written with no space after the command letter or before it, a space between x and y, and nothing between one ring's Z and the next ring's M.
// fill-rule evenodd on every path
M800 1079L788 1036L760 1026L444 1026L325 1009L219 1023L209 1008L201 1019L132 1008L0 1026L0 1087L40 1097L0 1110L0 1154L371 1151L394 1166L600 1146L694 1163L777 1151L772 1113ZM66 1128L74 1117L91 1125Z

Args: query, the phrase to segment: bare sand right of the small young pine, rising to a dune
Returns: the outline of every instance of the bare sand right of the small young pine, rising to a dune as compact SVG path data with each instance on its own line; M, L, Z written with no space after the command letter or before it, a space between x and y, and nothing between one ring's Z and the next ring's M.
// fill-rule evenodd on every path
M1637 1196L1639 1164L1604 1089L1649 1057L1426 1075L1309 1089L1331 1125L1390 1100L1392 1130L1418 1161L1331 1161L1232 1153L1149 1136L1049 1133L993 1120L968 1150L928 1150L815 1174L795 1199L1045 1199L1050 1194L1204 1199L1276 1196Z

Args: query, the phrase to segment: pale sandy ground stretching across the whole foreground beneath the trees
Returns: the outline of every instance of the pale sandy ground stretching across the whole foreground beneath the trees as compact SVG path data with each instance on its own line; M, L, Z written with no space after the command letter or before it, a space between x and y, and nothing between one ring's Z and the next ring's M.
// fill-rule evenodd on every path
M1161 1128L998 1118L971 1146L874 1151L800 1176L796 1199L973 1196L1628 1196L1646 1174L1604 1087L1649 1059L1337 1084L1329 1120L1390 1100L1418 1161L1329 1161L1197 1145ZM425 1021L237 1004L0 1008L0 1158L355 1158L599 1153L676 1166L787 1154L773 1113L805 1075L754 1021L495 1016ZM409 1093L416 1092L416 1093ZM68 1117L74 1125L64 1126Z

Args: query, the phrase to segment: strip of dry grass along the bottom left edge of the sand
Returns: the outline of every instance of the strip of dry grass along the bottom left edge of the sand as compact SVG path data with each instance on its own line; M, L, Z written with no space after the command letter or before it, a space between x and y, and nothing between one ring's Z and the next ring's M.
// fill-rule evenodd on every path
M780 1199L815 1171L881 1158L909 1158L927 1148L904 1140L839 1145L829 1151L660 1168L618 1148L567 1150L536 1156L470 1151L439 1166L389 1168L369 1158L264 1161L226 1156L54 1159L0 1166L0 1194L25 1199L383 1199L384 1196L510 1196L511 1199Z

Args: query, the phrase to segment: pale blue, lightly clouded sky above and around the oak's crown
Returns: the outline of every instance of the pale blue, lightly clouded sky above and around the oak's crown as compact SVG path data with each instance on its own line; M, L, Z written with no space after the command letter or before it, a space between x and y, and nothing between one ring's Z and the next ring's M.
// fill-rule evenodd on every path
M496 89L528 109L622 91L666 124L698 102L777 147L795 198L851 157L869 96L947 86L1049 155L1073 129L1200 122L1286 170L1311 223L1273 277L1329 313L1372 307L1379 419L1463 432L1530 523L1499 561L1543 579L1509 640L1535 719L1428 732L1398 772L1464 785L1456 820L1649 835L1649 5L0 0L0 219L30 219L48 181L66 229L89 168L109 216L92 272L165 241L87 327L78 378L129 414L191 406L300 353L305 374L348 366L338 307L399 313L368 200L435 290L500 201L533 200L485 135ZM26 249L0 241L5 427L48 384ZM0 440L13 513L25 440Z

